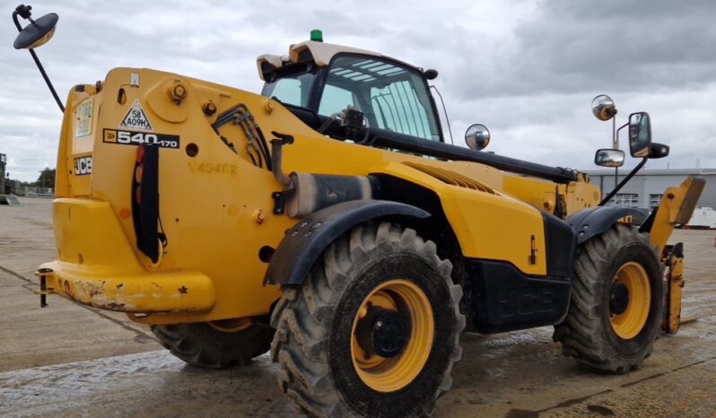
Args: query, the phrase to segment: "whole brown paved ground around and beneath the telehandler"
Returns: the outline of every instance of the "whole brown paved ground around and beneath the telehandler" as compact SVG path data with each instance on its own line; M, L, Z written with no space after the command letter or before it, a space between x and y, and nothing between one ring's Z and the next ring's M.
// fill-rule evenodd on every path
M57 297L39 309L31 276L54 257L49 201L0 206L0 415L300 416L266 355L247 367L185 366L144 326ZM438 417L716 416L716 231L686 245L684 316L642 370L600 376L552 343L551 327L464 335Z

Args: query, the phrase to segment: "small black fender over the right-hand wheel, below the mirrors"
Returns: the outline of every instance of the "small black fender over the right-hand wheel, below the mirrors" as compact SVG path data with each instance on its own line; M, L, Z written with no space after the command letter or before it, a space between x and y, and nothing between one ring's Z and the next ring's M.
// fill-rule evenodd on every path
M577 245L607 231L624 216L633 216L634 224L641 224L645 214L639 209L621 206L597 206L584 209L566 219L577 233Z

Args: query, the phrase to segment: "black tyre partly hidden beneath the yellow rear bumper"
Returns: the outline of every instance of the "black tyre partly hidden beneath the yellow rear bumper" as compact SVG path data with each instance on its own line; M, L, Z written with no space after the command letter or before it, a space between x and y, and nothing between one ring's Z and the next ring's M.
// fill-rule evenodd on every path
M254 324L242 331L225 333L205 322L151 328L170 353L192 366L212 369L249 364L271 348L275 331L267 325Z

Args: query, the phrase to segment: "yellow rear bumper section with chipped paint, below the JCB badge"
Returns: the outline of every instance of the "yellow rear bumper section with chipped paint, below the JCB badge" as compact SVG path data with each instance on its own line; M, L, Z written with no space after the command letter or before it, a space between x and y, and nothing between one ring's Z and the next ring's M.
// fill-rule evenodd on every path
M59 198L53 203L58 260L42 266L49 293L100 309L192 311L214 306L214 283L197 271L153 273L139 265L107 202Z

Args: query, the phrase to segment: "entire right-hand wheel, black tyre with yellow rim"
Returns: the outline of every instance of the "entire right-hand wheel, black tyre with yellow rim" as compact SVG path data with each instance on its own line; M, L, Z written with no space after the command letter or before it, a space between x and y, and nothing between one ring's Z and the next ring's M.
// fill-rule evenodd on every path
M656 248L646 234L617 223L578 248L575 269L570 309L554 327L554 341L589 370L638 369L660 333L663 266Z

